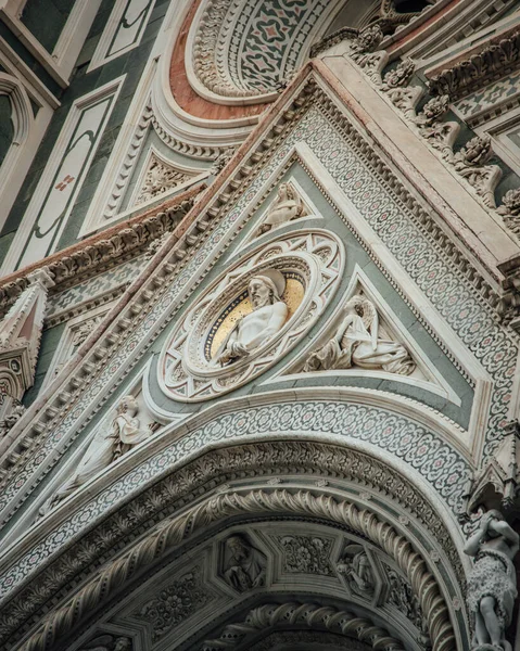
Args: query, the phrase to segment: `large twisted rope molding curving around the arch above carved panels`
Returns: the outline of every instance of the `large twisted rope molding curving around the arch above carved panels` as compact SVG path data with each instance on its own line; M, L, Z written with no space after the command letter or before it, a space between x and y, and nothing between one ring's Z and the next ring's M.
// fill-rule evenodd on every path
M455 633L436 579L428 570L421 554L415 551L405 536L398 534L393 526L380 521L370 511L359 510L346 500L338 501L330 496L316 497L306 490L294 495L288 490L252 490L246 495L218 495L163 523L132 549L101 570L60 609L51 612L22 646L21 651L55 649L56 642L63 636L77 627L93 609L106 602L109 597L143 566L156 562L167 551L212 523L244 513L312 515L347 525L355 533L366 536L388 553L405 573L428 622L433 651L453 650Z

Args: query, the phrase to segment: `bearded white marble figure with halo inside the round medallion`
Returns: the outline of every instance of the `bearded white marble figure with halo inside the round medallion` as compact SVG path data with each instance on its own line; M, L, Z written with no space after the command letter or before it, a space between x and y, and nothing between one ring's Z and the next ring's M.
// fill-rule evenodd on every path
M253 311L237 321L217 350L215 361L225 366L246 357L283 328L289 314L281 299L284 290L283 273L276 269L266 269L253 276L248 284Z

